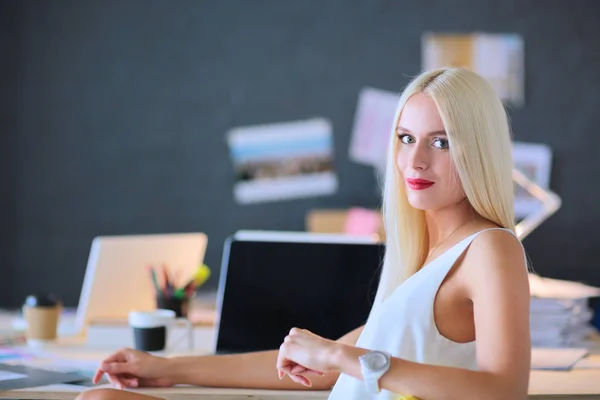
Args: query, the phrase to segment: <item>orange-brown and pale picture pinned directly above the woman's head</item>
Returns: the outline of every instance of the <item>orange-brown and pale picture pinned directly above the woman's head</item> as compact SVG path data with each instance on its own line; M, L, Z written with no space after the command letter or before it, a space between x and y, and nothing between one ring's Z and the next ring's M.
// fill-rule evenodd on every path
M441 34L422 37L422 67L463 67L477 72L503 102L525 103L524 43L517 34Z

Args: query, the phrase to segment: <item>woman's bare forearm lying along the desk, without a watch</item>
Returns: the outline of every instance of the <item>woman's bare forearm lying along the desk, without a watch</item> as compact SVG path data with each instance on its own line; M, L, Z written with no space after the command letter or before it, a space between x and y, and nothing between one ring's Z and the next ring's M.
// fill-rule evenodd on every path
M363 326L347 333L337 342L354 346ZM174 357L167 364L169 380L178 384L190 384L212 387L239 387L254 389L307 389L289 378L280 380L277 377L278 350L215 355ZM311 376L312 390L330 389L339 374L329 373L324 376Z

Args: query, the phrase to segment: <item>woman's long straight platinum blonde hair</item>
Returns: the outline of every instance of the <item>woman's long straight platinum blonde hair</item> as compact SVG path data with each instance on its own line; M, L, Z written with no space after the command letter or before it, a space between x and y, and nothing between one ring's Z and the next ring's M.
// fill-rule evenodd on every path
M402 92L390 134L382 204L386 252L375 305L422 267L429 248L425 212L409 204L396 166L396 127L407 100L419 92L433 99L438 108L450 157L471 206L499 226L515 229L511 133L495 90L467 69L421 73Z

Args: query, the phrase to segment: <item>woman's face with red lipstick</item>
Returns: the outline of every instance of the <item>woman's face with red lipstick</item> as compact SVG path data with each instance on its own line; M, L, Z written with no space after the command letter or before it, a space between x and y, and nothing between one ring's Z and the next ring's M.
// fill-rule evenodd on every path
M465 198L442 118L429 96L416 93L408 99L396 134L396 165L413 207L439 210Z

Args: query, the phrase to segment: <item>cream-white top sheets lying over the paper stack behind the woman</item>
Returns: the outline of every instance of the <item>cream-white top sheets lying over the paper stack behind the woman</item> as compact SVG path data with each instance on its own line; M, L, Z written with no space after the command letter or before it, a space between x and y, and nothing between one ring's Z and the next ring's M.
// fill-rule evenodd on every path
M556 299L582 299L600 296L600 288L580 282L544 278L529 274L531 296Z

